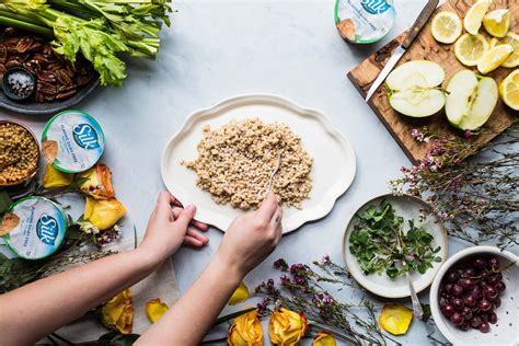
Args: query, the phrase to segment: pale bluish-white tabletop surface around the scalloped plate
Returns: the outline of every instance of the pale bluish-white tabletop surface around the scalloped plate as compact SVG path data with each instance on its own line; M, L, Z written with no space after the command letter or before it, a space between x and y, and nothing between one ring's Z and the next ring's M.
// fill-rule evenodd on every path
M395 2L396 25L384 42L410 26L425 3ZM175 1L174 8L178 12L173 15L173 27L163 35L159 60L130 64L124 88L99 89L80 105L104 128L107 145L103 161L112 168L117 197L137 229L143 232L157 194L163 189L161 151L183 119L229 96L270 93L326 114L353 142L358 169L354 184L332 212L285 237L246 282L252 288L262 279L277 277L272 263L278 257L289 263L310 262L330 254L343 263L346 221L364 201L387 193L387 182L410 164L346 78L349 69L380 45L346 44L334 26L333 0ZM38 135L47 119L0 115L28 124ZM174 256L182 291L218 247L222 233L212 229L208 234L208 247L183 249ZM466 245L451 241L449 253L461 246ZM349 293L345 290L339 297L347 300ZM422 298L426 301L427 295ZM399 341L429 344L420 322L414 322Z

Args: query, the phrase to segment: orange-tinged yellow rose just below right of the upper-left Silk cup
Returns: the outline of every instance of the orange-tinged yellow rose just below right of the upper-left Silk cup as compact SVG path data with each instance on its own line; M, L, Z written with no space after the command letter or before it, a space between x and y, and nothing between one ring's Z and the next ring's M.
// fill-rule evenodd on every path
M112 172L104 163L97 163L88 171L78 174L78 177L84 178L80 189L95 199L109 199L115 196L112 185Z

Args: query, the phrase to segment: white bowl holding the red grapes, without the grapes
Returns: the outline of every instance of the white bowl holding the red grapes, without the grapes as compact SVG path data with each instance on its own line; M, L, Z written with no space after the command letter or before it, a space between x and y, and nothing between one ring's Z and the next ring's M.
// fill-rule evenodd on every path
M499 258L499 266L515 261L516 264L503 272L506 290L500 296L501 305L496 309L497 323L491 324L489 333L481 333L470 328L457 328L440 311L438 291L445 274L449 268L468 257L478 254L495 255ZM519 345L519 263L518 257L508 251L500 251L495 246L472 246L458 252L441 266L430 286L430 310L436 325L441 334L453 345Z

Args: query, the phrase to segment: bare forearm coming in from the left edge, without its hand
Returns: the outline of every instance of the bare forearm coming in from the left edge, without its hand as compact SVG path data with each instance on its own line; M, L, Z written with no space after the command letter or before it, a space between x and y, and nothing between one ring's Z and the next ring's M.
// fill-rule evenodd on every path
M135 250L0 296L0 344L34 344L146 277L158 261L143 251Z

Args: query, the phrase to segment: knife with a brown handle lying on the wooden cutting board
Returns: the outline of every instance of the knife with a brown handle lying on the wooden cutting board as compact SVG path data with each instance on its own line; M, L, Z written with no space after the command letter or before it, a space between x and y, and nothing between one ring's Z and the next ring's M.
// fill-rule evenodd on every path
M422 10L420 14L416 19L415 23L410 30L410 33L407 34L407 37L405 37L404 42L402 45L396 47L394 49L393 54L391 55L391 58L388 60L388 64L385 64L384 68L382 71L380 71L379 76L374 80L374 82L371 84L371 88L368 90L368 94L366 95L366 102L371 99L371 96L374 94L377 89L379 88L380 84L385 80L385 77L393 70L393 67L399 62L400 58L404 55L404 53L410 48L411 44L413 41L418 36L419 32L422 28L425 26L427 21L429 20L430 15L435 12L437 5L438 5L439 0L429 0L425 8Z

